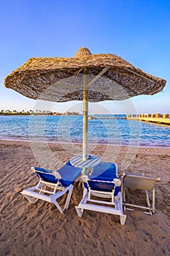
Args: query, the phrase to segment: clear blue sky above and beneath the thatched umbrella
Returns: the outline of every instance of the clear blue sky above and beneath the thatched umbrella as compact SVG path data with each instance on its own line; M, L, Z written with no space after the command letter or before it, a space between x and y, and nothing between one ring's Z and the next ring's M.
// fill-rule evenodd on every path
M169 0L0 0L0 110L34 109L36 101L4 87L4 78L29 58L114 53L166 79L163 92L131 99L138 113L170 113ZM124 104L124 103L123 103ZM91 113L122 112L121 102L90 105ZM54 110L80 110L56 103Z

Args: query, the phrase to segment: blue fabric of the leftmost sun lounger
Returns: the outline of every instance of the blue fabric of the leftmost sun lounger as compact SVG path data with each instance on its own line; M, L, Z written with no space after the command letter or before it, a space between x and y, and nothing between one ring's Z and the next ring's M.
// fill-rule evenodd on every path
M55 176L53 176L52 170L46 170L39 167L34 167L34 169L36 171L37 176L41 177L44 181L52 183L58 182L58 178L55 178ZM63 165L58 170L58 173L61 176L61 178L59 179L61 185L63 187L68 187L70 184L73 184L74 181L77 180L78 176L80 176L81 172L82 168L74 167L73 165L71 165L70 162L67 162L66 165Z

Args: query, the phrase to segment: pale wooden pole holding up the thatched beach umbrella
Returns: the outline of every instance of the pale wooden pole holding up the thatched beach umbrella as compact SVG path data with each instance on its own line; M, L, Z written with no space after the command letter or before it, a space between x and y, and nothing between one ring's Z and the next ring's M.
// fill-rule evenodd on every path
M82 160L88 160L88 68L83 72L83 132L82 132Z

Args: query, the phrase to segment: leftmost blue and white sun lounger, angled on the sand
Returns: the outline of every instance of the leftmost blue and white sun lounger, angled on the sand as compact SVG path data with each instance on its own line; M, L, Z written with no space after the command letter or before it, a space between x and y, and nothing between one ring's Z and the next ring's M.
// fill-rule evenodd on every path
M21 194L31 203L36 203L38 199L54 203L63 214L63 211L69 207L73 184L81 175L82 168L74 167L70 162L67 162L57 171L45 170L39 167L31 167L31 170L38 176L39 183L35 187L24 189ZM66 194L66 192L68 192L66 203L61 208L57 199Z

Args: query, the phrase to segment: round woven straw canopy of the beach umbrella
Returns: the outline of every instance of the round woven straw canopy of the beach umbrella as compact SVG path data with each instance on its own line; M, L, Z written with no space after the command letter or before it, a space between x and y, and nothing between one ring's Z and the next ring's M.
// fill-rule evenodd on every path
M88 75L83 75L85 68ZM4 85L32 99L65 102L82 100L85 76L90 102L156 94L166 85L166 80L149 75L116 55L91 54L87 48L80 48L72 58L28 59L5 78Z

